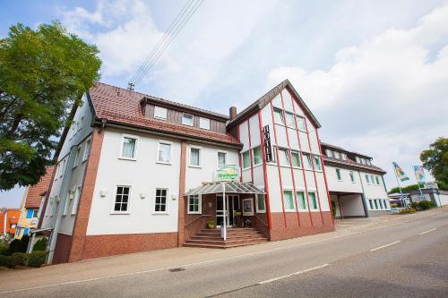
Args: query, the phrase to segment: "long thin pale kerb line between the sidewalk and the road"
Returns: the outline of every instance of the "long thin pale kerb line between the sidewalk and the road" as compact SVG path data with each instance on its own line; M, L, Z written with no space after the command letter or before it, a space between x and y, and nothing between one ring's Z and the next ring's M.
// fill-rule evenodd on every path
M418 217L418 219L414 219L413 221L429 220L430 219L429 217L434 217L434 216L437 216L437 215L440 215L440 214L443 214L443 213L444 213L444 211L433 213L433 214L430 214L430 215L427 215L427 216ZM327 241L336 240L336 239L339 239L339 238L353 236L353 235L356 235L356 234L366 234L368 232L381 230L381 229L387 228L387 227L400 226L400 225L402 225L404 223L404 222L400 221L400 219L402 219L402 217L388 219L387 221L397 221L396 223L394 223L391 226L377 226L377 227L374 227L374 228L371 228L371 229L366 229L366 230L363 230L363 231L352 232L350 234L340 234L340 235L337 235L337 236L332 236L332 237L328 237L328 238L318 239L318 240L310 241L310 242L307 242L307 243L297 243L297 244L292 244L292 245L288 245L288 246L275 247L275 248L271 248L271 249L265 250L265 251L246 252L246 253L242 253L242 254L238 254L238 255L235 255L235 256L226 257L226 258L220 258L220 259L214 259L214 260L204 260L204 261L187 263L187 264L182 264L182 265L170 266L170 267L167 267L167 268L154 268L154 269L148 269L148 270L142 270L142 271L121 273L121 274L116 274L116 275L111 275L111 276L78 279L78 280L66 281L66 282L61 282L61 283L56 283L56 284L30 286L30 287L25 287L25 288L20 288L20 289L1 291L0 294L10 294L10 293L16 293L16 292L44 289L44 288L47 288L47 287L55 287L55 286L60 286L60 285L76 285L76 284L82 284L82 283L89 283L89 282L92 282L92 281L104 280L104 279L108 279L108 278L129 277L129 276L140 275L140 274L145 274L145 273L159 272L159 271L164 271L164 270L168 270L170 268L175 268L175 267L190 267L190 266L210 264L210 263L214 263L214 262L222 262L222 261L225 261L225 260L245 258L245 257L248 257L248 256L254 256L254 255L268 253L268 252L272 252L272 251L282 251L282 250L287 250L287 249L291 249L291 248L297 248L297 247L308 245L308 244L323 243L323 242L327 242ZM379 224L381 224L382 222L379 222ZM368 225L365 225L364 227L371 226L371 225L372 224L368 224ZM363 226L360 226L359 228L362 228L362 227Z

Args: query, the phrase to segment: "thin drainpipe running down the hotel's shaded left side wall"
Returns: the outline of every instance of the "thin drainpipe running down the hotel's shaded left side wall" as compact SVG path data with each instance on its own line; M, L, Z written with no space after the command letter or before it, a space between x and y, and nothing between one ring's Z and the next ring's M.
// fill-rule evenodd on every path
M48 258L47 264L51 264L53 261L53 256L55 255L56 249L56 241L57 241L57 232L59 231L59 227L61 226L61 219L64 214L65 208L65 200L67 200L67 195L64 195L68 192L68 185L70 182L70 178L72 178L72 168L73 168L73 158L75 156L75 150L77 146L72 146L70 149L70 153L68 156L68 160L65 166L64 178L61 186L61 190L58 193L59 205L56 210L56 222L53 226L53 232L50 237L50 243L48 245Z

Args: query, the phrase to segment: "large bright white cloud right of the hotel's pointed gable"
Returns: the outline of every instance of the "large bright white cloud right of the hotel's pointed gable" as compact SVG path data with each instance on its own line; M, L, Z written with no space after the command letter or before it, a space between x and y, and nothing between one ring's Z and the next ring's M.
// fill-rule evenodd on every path
M448 5L409 30L389 29L344 47L328 70L277 67L268 85L289 78L336 145L375 158L391 174L408 172L418 154L448 132Z

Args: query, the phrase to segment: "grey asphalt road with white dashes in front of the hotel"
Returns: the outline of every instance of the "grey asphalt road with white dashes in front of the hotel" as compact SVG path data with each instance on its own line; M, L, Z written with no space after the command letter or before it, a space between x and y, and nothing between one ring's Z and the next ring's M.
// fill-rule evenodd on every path
M448 297L448 212L408 218L310 243L196 262L175 272L148 270L0 295Z

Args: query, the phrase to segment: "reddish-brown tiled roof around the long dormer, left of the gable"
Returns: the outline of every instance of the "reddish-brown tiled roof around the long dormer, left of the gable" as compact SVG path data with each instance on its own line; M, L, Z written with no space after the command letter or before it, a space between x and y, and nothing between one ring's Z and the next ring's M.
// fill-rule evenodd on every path
M227 133L211 132L196 127L185 126L177 123L168 123L162 120L149 119L144 117L140 100L142 98L152 98L139 92L118 88L101 82L96 83L89 91L90 99L95 109L97 117L106 119L108 122L130 125L137 128L147 129L156 132L168 132L195 139L211 140L230 145L240 145L239 141ZM165 100L159 98L159 100ZM185 106L165 100L170 104ZM186 108L186 107L185 107ZM188 106L189 109L194 107ZM202 109L198 112L208 113ZM213 113L215 115L219 115ZM226 117L220 115L221 117Z

